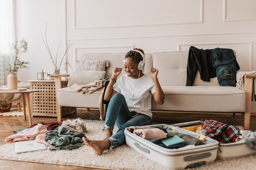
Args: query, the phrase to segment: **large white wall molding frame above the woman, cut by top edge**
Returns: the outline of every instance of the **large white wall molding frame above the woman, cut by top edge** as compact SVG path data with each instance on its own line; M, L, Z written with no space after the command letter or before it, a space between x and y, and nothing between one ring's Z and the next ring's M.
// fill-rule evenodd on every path
M151 26L164 26L164 25L182 25L182 24L202 24L203 23L203 0L200 0L200 15L199 19L192 22L169 22L162 24L139 24L139 25L122 25L122 26L102 26L102 27L77 27L76 20L76 0L73 1L74 11L74 30L88 30L88 29L106 29L106 28L128 28L128 27L151 27Z

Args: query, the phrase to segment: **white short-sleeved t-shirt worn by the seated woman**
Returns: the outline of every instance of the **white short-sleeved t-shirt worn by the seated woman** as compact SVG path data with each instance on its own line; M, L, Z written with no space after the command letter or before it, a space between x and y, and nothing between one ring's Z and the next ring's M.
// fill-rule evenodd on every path
M132 79L123 74L113 89L123 94L130 111L152 117L151 98L155 93L155 84L151 76L144 74L139 79Z

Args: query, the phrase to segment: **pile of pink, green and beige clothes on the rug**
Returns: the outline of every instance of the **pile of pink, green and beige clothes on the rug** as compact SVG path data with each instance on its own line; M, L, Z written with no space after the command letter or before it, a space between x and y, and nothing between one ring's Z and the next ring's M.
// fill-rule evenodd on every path
M14 131L15 132L15 131ZM6 137L4 143L36 140L50 146L49 150L72 150L84 145L86 125L81 118L62 122L32 124Z

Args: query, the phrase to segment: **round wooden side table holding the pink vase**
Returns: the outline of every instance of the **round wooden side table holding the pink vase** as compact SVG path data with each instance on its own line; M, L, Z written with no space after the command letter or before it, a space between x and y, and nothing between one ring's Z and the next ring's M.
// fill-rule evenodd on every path
M30 101L29 101L29 94L33 94L35 92L37 92L38 90L31 90L31 89L27 89L27 90L23 90L23 91L14 91L14 90L0 90L0 94L4 94L4 93L21 93L21 100L22 100L22 107L23 107L23 116L24 116L24 120L26 120L26 105L27 105L27 114L29 116L29 126L32 125L32 118L31 118L31 109L30 109ZM26 102L25 102L26 99Z

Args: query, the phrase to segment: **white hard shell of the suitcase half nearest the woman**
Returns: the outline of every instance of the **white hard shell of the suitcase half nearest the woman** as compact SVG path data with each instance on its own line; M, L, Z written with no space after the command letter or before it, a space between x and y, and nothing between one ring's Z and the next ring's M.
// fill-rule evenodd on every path
M204 143L203 145L169 149L157 145L152 140L146 140L139 135L133 134L129 131L129 128L126 128L126 144L163 167L170 170L179 170L211 163L217 157L219 142L214 139L167 124L154 124L150 125L150 128L159 128L166 133L176 132L190 135Z

